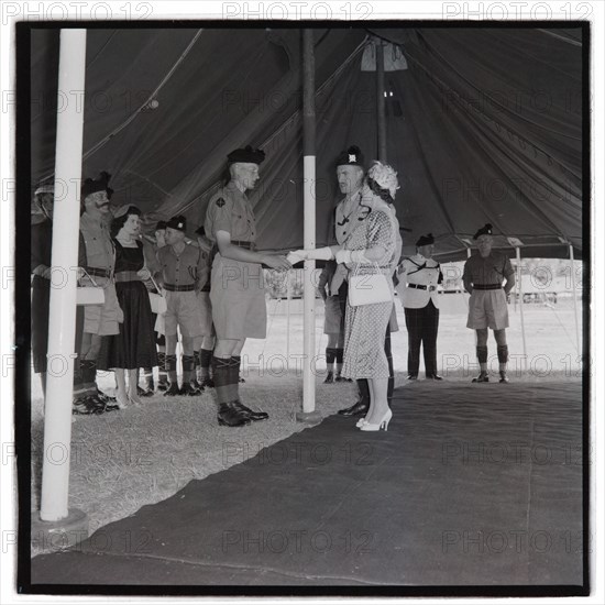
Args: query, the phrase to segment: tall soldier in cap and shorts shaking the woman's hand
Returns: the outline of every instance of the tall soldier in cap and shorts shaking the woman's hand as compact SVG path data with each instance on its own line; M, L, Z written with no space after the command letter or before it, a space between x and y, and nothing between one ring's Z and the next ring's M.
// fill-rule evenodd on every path
M264 152L246 146L228 155L230 182L208 204L206 235L215 242L210 301L217 344L212 376L219 405L219 425L238 427L268 415L244 406L239 395L241 351L246 338L266 338L265 264L288 270L282 255L255 251L256 223L245 195L258 180Z

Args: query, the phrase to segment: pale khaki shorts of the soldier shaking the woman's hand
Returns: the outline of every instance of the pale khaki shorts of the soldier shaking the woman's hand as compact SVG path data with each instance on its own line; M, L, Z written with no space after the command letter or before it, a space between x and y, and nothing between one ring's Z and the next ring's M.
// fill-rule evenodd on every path
M210 288L219 340L266 338L267 307L263 267L215 256Z

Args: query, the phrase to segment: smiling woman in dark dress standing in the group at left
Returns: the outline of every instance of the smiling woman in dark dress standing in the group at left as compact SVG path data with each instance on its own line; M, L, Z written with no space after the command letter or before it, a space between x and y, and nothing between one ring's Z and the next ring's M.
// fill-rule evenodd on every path
M124 321L119 334L103 338L97 366L116 372L116 398L120 407L141 403L136 393L139 367L157 365L150 297L143 283L150 278L150 271L145 266L143 244L138 240L140 216L141 210L135 206L124 206L111 222L116 244L116 292Z

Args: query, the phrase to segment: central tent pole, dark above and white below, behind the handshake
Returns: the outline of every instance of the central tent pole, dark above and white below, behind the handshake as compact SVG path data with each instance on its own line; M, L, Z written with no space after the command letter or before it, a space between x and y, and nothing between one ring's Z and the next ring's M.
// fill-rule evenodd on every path
M315 248L316 204L316 150L315 150L315 48L314 31L302 30L302 162L305 183L305 248ZM305 261L304 272L304 373L302 413L315 411L315 287L312 275L315 261Z

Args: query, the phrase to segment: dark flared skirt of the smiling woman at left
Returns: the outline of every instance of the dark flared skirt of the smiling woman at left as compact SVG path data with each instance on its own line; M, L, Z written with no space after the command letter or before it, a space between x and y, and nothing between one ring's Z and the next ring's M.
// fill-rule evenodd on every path
M157 365L157 352L147 288L142 282L118 282L116 292L124 321L120 323L119 334L103 337L97 367L154 367Z

